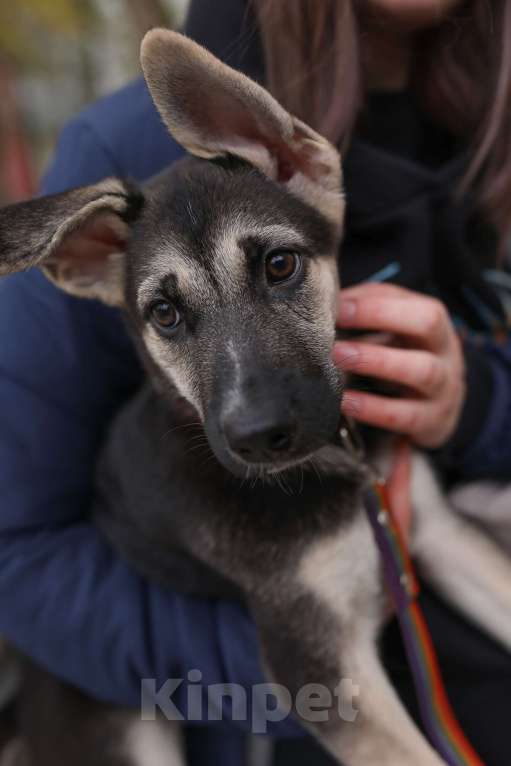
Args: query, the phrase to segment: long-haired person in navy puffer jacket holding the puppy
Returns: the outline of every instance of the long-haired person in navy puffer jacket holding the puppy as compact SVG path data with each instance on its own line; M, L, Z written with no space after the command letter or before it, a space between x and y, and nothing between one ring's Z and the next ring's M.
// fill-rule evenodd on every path
M509 478L511 344L494 338L505 312L487 270L505 262L511 220L510 3L193 0L186 32L343 148L339 324L394 342L334 354L401 392L351 391L344 406L430 450L446 481ZM181 153L139 80L64 129L42 191L142 181ZM141 678L184 679L183 709L192 668L204 687L264 674L240 605L145 582L90 522L98 449L141 375L113 309L37 271L0 285L0 633L122 705L140 704ZM427 588L421 598L461 724L504 766L511 658ZM416 715L395 623L383 650ZM189 763L239 764L247 730L190 724ZM292 720L270 734L275 763L331 762Z

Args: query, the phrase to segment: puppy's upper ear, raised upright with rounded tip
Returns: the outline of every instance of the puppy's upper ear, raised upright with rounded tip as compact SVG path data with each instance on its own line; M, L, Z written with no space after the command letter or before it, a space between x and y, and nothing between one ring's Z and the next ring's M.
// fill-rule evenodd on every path
M268 91L189 38L165 29L147 33L141 61L167 128L191 154L241 157L340 223L337 150Z

